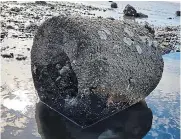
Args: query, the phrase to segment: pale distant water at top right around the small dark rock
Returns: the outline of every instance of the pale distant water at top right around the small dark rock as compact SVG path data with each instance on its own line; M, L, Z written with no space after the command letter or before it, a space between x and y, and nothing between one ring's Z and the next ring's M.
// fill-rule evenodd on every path
M110 8L111 3L108 1L86 1L86 2L77 2L83 3L86 5L92 5L95 7L104 7ZM149 22L154 26L172 26L172 25L180 25L180 17L175 15L175 12L180 9L179 3L173 2L161 2L161 1L117 1L118 4L117 9L113 9L112 11L107 10L106 12L92 12L98 16L103 17L113 17L115 19L123 19L123 10L127 4L135 7L137 12L144 13L148 15L148 18L137 18L138 22ZM167 18L173 19L167 19Z

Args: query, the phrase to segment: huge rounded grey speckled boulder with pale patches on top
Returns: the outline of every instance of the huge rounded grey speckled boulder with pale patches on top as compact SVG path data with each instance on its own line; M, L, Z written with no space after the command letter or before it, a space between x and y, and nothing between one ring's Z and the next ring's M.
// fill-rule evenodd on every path
M58 16L36 32L31 69L39 98L78 126L87 127L148 96L163 59L138 23Z

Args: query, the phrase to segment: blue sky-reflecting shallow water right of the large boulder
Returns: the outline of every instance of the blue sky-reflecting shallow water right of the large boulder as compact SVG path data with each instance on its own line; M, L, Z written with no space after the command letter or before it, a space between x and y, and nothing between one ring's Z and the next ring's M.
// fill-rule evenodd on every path
M153 112L153 124L144 139L180 138L180 53L170 53L163 58L162 79L146 98Z

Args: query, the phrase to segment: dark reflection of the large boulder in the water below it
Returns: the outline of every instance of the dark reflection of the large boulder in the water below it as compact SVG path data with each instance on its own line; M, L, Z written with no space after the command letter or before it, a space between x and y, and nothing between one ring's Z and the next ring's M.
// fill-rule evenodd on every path
M38 132L42 139L141 139L152 125L152 111L145 101L82 129L43 103L36 104Z

